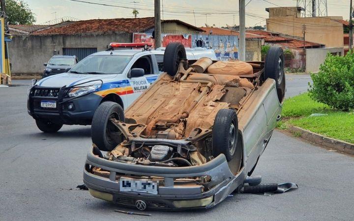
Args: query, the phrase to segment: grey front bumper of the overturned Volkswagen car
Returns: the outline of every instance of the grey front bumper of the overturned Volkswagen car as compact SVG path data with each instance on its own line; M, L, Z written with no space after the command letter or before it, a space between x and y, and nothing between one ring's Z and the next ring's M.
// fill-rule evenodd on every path
M89 172L90 166L97 166L110 171L109 178ZM164 186L158 188L158 194L120 192L119 174L132 176L163 177ZM203 191L202 185L177 186L174 178L210 176L209 190ZM237 187L243 184L246 178L245 169L234 175L229 168L224 155L219 155L202 166L188 167L157 167L125 164L108 161L88 153L84 169L84 183L90 193L101 199L113 201L119 205L136 207L137 200L143 200L148 209L207 209L224 200Z

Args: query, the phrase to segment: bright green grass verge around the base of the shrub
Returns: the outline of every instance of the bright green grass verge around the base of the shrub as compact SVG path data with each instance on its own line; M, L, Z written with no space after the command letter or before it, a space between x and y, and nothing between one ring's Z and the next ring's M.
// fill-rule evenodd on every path
M325 116L313 116L312 113L326 113ZM313 101L307 93L285 100L283 113L285 122L330 138L354 143L354 112L336 111Z

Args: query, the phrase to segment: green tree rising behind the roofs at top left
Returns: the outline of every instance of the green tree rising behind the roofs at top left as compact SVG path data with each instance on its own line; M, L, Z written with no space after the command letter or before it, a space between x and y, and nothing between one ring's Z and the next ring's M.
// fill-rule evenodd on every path
M36 21L35 14L23 0L6 0L5 9L10 25L32 25Z

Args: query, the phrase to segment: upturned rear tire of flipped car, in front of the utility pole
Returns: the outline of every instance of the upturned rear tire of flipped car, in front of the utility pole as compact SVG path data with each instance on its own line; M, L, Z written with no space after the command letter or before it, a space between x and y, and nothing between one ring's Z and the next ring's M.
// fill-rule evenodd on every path
M184 46L179 42L173 42L167 45L164 54L164 72L171 76L175 76L178 72L179 62L182 59L187 59ZM184 69L187 69L187 63L184 64Z

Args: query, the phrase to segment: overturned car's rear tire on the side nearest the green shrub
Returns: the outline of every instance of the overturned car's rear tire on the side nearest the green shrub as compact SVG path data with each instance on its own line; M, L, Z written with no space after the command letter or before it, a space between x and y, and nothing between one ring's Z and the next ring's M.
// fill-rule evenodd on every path
M285 96L285 59L281 47L270 47L266 54L265 80L274 79L279 102L282 103Z

